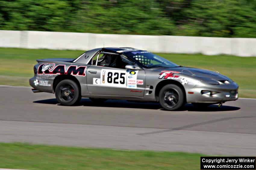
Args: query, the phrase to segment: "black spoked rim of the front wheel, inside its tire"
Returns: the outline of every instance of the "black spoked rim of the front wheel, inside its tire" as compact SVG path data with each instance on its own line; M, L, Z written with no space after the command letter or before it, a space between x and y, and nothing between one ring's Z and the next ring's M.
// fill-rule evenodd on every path
M167 107L173 108L178 104L179 93L172 88L164 90L164 104Z

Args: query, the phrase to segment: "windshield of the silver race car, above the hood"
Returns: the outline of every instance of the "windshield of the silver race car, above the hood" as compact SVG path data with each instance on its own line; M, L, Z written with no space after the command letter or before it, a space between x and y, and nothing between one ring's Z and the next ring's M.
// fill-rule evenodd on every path
M133 58L142 64L143 67L152 68L152 67L179 67L177 64L170 62L167 59L164 59L158 55L155 55L148 51L133 51L126 52L124 55Z

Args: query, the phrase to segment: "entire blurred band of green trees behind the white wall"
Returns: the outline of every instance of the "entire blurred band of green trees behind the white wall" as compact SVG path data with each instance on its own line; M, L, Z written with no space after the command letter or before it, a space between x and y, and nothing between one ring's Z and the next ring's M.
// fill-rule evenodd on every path
M0 29L256 38L256 0L0 0Z

